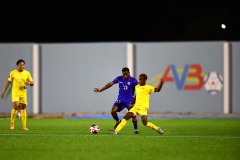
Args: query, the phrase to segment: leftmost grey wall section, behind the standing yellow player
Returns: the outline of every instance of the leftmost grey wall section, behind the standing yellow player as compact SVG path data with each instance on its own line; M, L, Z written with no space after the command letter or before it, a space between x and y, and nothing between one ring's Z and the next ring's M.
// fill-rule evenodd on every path
M11 70L16 69L18 59L25 60L25 69L33 72L32 61L33 44L32 43L4 43L0 44L0 91L2 91L7 82L7 78ZM8 89L10 89L9 86ZM28 86L28 112L33 112L33 90ZM10 113L12 110L11 93L5 95L4 99L0 100L0 113Z

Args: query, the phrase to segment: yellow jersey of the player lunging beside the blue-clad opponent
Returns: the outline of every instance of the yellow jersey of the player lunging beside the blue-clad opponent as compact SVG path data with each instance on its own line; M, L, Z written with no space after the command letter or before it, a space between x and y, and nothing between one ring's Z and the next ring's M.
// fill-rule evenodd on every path
M140 86L139 84L135 86L136 101L134 107L137 108L147 108L149 109L150 95L154 93L155 87L148 84Z

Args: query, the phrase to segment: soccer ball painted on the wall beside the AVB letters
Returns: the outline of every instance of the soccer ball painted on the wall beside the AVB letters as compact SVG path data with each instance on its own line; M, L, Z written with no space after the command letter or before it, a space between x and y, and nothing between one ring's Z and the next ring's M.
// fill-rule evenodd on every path
M218 72L210 72L204 77L204 87L206 91L212 95L222 90L223 78Z

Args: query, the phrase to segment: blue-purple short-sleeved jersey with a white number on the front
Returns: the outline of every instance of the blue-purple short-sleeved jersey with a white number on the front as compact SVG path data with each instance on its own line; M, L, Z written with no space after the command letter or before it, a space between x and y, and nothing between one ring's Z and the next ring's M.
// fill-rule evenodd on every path
M124 79L123 76L118 76L113 82L119 84L118 100L130 102L133 98L135 86L138 84L138 81L131 76L127 79Z

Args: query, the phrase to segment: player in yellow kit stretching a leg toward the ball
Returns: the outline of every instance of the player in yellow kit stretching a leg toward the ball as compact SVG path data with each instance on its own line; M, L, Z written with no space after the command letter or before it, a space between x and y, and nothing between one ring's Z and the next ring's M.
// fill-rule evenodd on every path
M121 120L121 123L117 126L115 130L107 130L110 134L117 134L121 129L126 125L127 120L136 116L137 114L141 116L143 125L157 131L159 134L164 134L164 131L154 125L151 122L148 122L148 110L150 104L150 94L154 92L159 92L163 86L164 81L161 79L157 88L146 84L147 75L142 73L139 75L138 85L135 86L135 98L131 102L134 104L134 107L131 108L127 114Z

